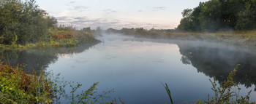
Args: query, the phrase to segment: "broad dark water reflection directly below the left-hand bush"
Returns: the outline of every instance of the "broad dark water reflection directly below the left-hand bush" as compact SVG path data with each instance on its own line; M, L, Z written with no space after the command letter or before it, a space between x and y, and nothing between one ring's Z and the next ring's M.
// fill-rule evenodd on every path
M47 68L50 63L55 63L58 60L56 53L51 50L33 49L19 51L5 51L5 60L8 60L10 65L16 66L22 64L27 72L40 71L41 68Z

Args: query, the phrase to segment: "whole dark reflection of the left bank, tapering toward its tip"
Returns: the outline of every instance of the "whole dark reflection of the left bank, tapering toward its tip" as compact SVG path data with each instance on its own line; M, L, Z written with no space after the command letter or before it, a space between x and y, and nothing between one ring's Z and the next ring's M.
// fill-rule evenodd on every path
M95 44L83 44L78 47L61 47L56 49L26 49L23 51L4 51L4 57L12 66L23 64L24 69L31 73L34 70L38 73L42 68L56 63L59 54L73 55L84 52Z

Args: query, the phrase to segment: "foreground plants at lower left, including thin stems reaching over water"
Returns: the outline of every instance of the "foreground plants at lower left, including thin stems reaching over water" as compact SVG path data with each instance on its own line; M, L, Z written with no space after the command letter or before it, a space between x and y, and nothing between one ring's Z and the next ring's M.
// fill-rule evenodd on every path
M97 84L98 82L76 94L82 84L63 81L59 78L59 74L53 77L53 73L44 73L43 70L39 76L35 71L28 74L23 71L22 65L12 68L8 63L0 60L0 103L60 103L61 97L69 103L100 103L99 98L102 101L104 98L109 98L106 95L113 90L98 95ZM66 94L67 86L72 91Z

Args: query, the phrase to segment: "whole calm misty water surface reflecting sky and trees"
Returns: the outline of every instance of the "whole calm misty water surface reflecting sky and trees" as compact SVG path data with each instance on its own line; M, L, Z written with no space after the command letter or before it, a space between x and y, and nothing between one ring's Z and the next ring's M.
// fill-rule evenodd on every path
M202 41L136 39L127 36L99 37L102 43L73 48L4 52L10 63L26 63L28 69L42 66L61 73L67 81L90 87L115 89L110 96L127 104L170 103L160 81L170 87L174 103L206 100L211 91L208 79L224 81L240 63L235 81L244 95L252 89L256 101L256 53L249 49ZM31 70L27 70L31 71Z

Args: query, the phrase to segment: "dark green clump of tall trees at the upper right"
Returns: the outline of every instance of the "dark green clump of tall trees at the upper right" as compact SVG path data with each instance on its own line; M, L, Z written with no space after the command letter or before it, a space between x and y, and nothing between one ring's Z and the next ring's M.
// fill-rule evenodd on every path
M210 0L184 9L178 31L248 31L256 29L256 0Z

